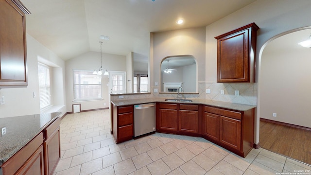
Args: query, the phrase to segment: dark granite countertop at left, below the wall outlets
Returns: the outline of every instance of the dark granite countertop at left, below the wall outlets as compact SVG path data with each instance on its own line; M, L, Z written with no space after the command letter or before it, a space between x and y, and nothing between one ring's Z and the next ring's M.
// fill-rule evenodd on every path
M61 112L54 112L0 118L0 128L6 129L5 135L2 136L0 132L0 159L5 162L12 157L60 114Z

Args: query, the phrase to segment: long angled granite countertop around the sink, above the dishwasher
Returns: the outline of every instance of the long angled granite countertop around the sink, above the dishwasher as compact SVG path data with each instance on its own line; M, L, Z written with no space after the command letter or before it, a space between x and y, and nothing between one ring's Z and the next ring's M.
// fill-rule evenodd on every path
M138 105L145 103L154 103L154 102L165 102L165 103L183 103L183 104L202 104L202 105L211 105L215 107L223 107L227 109L239 110L239 111L247 111L249 109L255 108L256 105L243 105L229 102L220 102L213 101L207 99L190 99L192 102L168 102L165 101L166 98L147 98L147 99L135 99L135 100L118 100L111 101L111 103L115 106L122 105Z

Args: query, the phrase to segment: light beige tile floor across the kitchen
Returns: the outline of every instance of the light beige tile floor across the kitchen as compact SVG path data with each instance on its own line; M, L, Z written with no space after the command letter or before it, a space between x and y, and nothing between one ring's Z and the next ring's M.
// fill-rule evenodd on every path
M115 144L109 112L62 119L61 160L54 175L311 175L310 165L265 149L242 158L196 137L155 133Z

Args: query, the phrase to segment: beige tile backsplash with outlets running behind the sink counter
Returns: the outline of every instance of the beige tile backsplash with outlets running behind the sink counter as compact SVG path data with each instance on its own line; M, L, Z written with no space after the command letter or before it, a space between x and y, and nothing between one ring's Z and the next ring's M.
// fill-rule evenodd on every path
M183 94L188 99L208 99L222 102L231 102L244 105L257 105L257 83L198 83L198 93ZM124 98L119 99L119 95L112 95L111 101L118 100L135 100L142 98L176 98L176 93L154 93L154 88L151 87L151 93L141 94L120 94ZM206 89L210 89L210 93L206 93ZM221 95L221 90L224 90L224 95ZM239 90L239 96L235 95L235 90Z

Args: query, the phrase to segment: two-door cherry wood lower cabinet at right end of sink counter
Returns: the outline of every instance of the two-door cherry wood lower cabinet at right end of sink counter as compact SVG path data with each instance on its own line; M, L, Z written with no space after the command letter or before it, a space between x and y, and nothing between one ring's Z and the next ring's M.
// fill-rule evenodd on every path
M204 106L203 136L245 157L254 144L254 108L236 111Z

